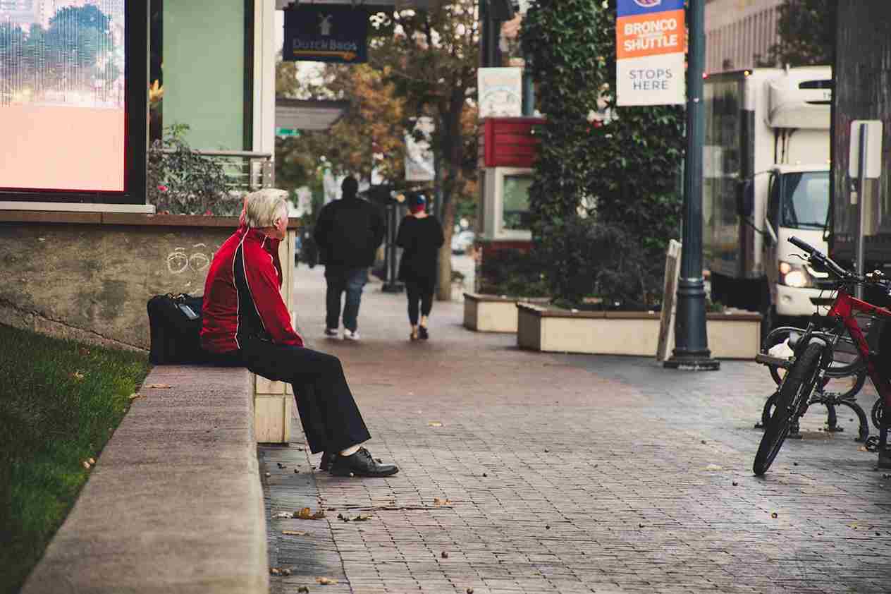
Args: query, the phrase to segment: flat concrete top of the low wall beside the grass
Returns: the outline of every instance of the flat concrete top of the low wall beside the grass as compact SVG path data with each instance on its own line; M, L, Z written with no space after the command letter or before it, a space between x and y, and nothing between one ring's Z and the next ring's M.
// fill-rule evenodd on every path
M248 370L145 384L22 594L268 592Z

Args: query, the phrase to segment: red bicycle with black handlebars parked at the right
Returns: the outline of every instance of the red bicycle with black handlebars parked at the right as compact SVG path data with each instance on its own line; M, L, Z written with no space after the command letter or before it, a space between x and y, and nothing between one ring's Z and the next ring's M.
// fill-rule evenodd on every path
M891 282L878 270L865 276L858 276L838 265L828 256L798 239L789 237L789 243L807 253L808 260L815 268L826 270L838 279L837 293L826 317L814 314L804 333L789 341L795 357L777 393L773 414L764 426L764 436L755 455L752 470L764 474L780 452L789 429L796 425L805 414L815 386L822 385L832 365L833 353L838 341L846 334L865 361L867 375L879 392L879 400L872 409L872 421L879 427L879 467L891 468L891 450L887 449L887 430L891 427L891 416L885 411L891 409L891 372L879 373L879 337L882 322L891 319L891 310L855 298L852 288L856 285L869 285L888 294ZM868 326L864 333L863 326Z

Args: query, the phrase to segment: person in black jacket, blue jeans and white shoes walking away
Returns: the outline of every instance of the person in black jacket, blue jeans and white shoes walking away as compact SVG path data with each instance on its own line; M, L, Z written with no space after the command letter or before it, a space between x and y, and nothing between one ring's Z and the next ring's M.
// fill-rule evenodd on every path
M343 305L343 337L359 340L359 302L368 282L368 268L384 239L384 222L371 202L356 194L359 183L347 176L340 184L340 200L325 204L315 223L315 244L325 265L325 335L337 336L340 294L347 292Z

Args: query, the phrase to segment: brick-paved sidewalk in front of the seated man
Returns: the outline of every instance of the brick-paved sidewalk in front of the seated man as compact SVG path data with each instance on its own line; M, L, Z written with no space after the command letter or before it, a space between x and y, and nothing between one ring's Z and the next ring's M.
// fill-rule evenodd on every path
M270 515L330 509L270 520L271 565L294 571L274 592L891 591L891 474L846 413L835 436L809 413L758 479L763 367L519 351L464 330L460 302L437 302L429 343L411 343L405 296L373 284L363 341L324 340L322 274L298 270L300 326L342 359L369 450L401 472L337 478L298 440L260 448Z

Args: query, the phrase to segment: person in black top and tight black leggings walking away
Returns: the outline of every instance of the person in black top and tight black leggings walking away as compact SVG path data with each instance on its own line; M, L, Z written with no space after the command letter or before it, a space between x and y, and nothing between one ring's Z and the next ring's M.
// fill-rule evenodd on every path
M405 283L405 293L408 295L408 320L412 325L410 338L413 341L429 338L427 323L437 284L437 253L446 241L442 225L436 217L427 214L426 206L423 195L413 195L408 202L411 214L402 220L396 235L396 245L404 250L399 263L399 280Z

